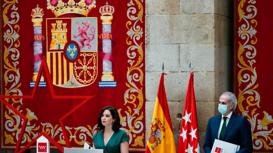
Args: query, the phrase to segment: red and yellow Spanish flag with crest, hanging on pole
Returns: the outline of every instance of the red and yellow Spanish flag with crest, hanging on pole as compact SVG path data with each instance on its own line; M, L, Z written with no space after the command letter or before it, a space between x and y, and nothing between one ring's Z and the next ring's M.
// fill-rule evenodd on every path
M152 125L147 140L146 153L176 153L172 123L164 88L162 72L154 106Z

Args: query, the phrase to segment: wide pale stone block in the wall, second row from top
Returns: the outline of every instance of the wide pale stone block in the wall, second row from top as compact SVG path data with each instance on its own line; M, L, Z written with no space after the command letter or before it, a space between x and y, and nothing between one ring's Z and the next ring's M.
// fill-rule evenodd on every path
M214 43L214 15L149 15L150 44Z

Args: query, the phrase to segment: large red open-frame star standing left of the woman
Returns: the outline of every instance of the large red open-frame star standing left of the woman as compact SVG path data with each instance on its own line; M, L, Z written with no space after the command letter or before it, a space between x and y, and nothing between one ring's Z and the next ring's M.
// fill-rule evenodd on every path
M52 99L84 99L80 104L78 104L76 107L74 107L73 109L71 109L68 113L66 113L64 116L62 116L60 119L59 119L59 122L60 122L60 126L61 126L61 129L62 129L62 132L64 134L64 138L65 138L65 143L66 143L66 147L68 148L71 148L70 147L70 143L69 143L69 139L68 139L68 136L65 132L65 126L64 126L64 123L63 123L63 120L68 117L69 115L71 115L72 113L74 113L78 108L80 108L81 106L83 106L83 104L85 104L88 100L90 100L92 97L94 96L57 96L55 95L55 91L54 91L54 88L53 88L53 84L52 84L52 80L51 80L51 76L49 74L49 70L48 70L48 67L47 67L47 63L46 63L46 58L43 57L43 60L42 60L42 63L41 63L41 66L40 66L40 69L39 69L39 72L38 72L38 76L37 76L37 79L36 79L36 82L35 82L35 85L34 85L34 88L33 88L33 91L32 91L32 94L30 96L4 96L4 95L0 95L0 101L6 105L8 108L10 108L14 113L16 113L18 116L20 116L23 120L23 125L22 125L22 128L21 128L21 131L20 131L20 134L19 134L19 137L18 137L18 142L16 144L16 148L15 148L15 153L21 153L23 151L25 151L34 141L36 141L37 138L39 138L41 135L45 136L47 139L49 139L56 147L58 147L60 149L60 151L64 152L64 149L63 147L61 147L55 140L53 140L50 136L48 136L46 133L41 133L39 136L37 136L36 138L34 138L31 142L29 142L24 148L22 148L21 150L19 150L20 148L20 145L21 145L21 141L22 141L22 138L23 138L23 135L25 133L25 128L26 128L26 124L27 124L27 121L28 121L28 118L23 115L22 113L20 113L15 107L13 107L11 104L9 104L6 100L4 100L3 98L16 98L16 99L20 99L20 98L23 98L23 99L33 99L34 98L34 94L36 92L36 89L38 87L38 84L39 84L39 80L41 79L42 77L42 72L45 72L46 74L46 78L47 78L47 82L48 82L48 85L49 85L49 88L50 88L50 91L51 91L51 96L52 96Z

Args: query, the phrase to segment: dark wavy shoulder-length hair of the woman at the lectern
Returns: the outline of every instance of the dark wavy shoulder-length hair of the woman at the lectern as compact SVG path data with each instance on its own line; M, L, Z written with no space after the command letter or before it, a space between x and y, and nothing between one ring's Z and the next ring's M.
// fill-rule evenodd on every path
M101 123L101 116L102 116L102 113L103 113L106 109L110 111L110 113L111 113L111 115L112 115L112 118L113 118L113 119L116 119L116 120L114 121L112 130L113 130L113 131L119 130L119 128L121 128L120 118L119 118L119 112L117 111L116 108L114 108L114 107L112 107L112 106L106 106L106 107L104 107L104 108L101 109L100 116L98 117L98 126L97 126L97 128L98 128L99 130L105 128L104 125L102 125L102 123Z

